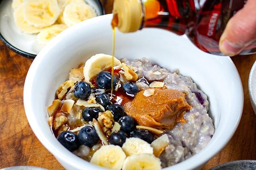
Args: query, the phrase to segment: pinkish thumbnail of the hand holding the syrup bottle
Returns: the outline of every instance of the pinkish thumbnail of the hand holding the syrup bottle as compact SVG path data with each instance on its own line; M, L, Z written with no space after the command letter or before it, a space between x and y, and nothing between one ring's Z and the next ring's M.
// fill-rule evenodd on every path
M234 56L234 55L239 54L241 52L242 48L243 48L242 45L229 42L228 40L223 40L220 43L221 52L228 56Z

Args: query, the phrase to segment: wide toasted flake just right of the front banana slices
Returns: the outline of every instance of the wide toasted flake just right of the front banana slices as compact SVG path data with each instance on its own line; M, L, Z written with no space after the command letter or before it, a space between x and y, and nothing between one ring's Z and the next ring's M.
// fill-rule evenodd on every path
M156 157L159 157L161 153L165 150L165 148L169 144L169 139L167 134L160 136L159 138L155 139L151 143L151 147L153 147L153 152Z

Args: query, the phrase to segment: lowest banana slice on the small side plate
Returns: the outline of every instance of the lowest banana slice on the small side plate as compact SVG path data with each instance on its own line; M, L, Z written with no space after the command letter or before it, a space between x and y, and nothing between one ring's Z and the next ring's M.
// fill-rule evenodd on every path
M38 41L46 44L47 42L52 40L53 37L58 35L61 31L64 31L66 28L67 26L65 24L55 24L44 28L38 34Z

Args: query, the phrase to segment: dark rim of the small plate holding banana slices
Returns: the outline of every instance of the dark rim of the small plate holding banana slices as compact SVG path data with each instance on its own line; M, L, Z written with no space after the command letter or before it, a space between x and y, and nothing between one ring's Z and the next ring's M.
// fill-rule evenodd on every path
M1 6L2 1L3 1L3 0L0 0L0 6ZM100 11L102 11L102 15L105 15L105 9L104 9L104 7L103 7L101 1L100 1L100 0L95 0L95 1L96 1L96 3L99 4L99 7L100 7L99 9L100 9ZM10 0L9 3L11 3L11 0ZM38 55L38 54L32 54L32 53L23 51L23 50L21 50L21 49L15 47L14 45L12 45L10 42L8 42L8 41L3 37L3 35L1 34L1 32L0 32L0 40L2 40L3 43L4 43L8 48L10 48L12 51L14 51L14 52L17 53L17 54L20 54L20 55L23 56L23 57L30 58L30 59L35 59L35 57Z

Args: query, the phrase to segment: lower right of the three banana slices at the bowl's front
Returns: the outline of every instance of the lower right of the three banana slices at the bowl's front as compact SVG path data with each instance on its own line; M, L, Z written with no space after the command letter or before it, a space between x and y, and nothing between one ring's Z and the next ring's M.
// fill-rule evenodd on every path
M143 153L128 156L122 166L122 170L160 170L161 161L153 154Z

